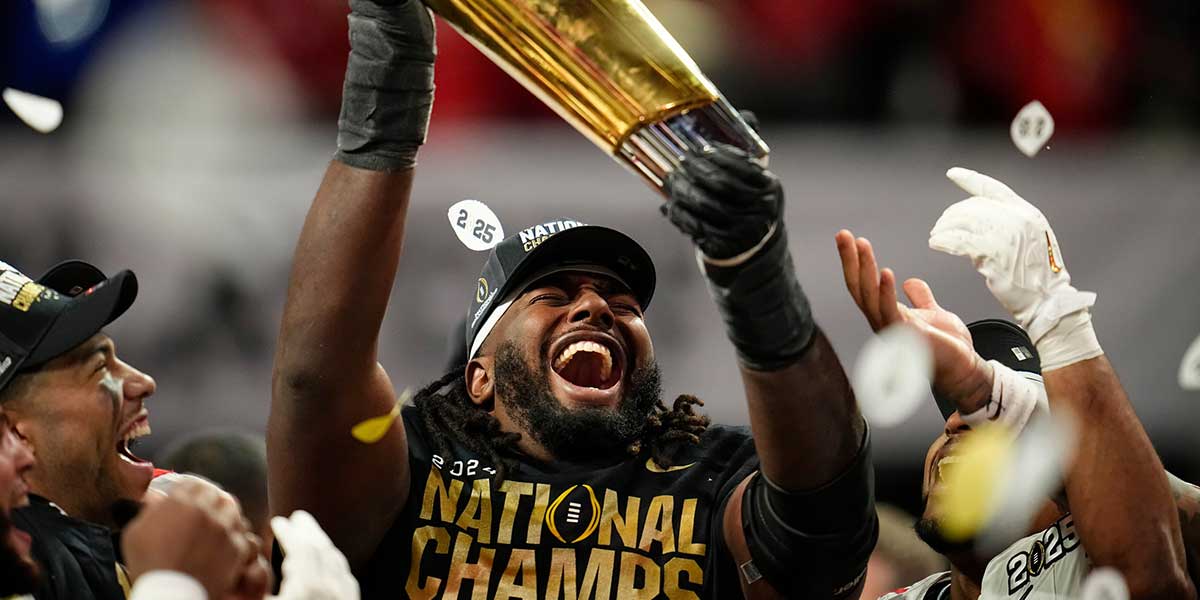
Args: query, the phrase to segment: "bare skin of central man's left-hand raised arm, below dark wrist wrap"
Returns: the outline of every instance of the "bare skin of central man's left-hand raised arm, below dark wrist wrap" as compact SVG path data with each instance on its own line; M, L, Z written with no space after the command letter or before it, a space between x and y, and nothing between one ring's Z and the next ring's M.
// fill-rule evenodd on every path
M400 260L412 172L335 161L300 235L268 421L272 514L306 509L361 564L408 493L402 427L350 437L396 402L376 342ZM397 458L398 457L398 458Z

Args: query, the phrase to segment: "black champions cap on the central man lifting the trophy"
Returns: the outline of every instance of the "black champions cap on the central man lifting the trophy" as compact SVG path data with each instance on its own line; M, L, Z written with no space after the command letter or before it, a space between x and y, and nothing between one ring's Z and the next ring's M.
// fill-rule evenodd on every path
M559 270L613 276L629 287L643 311L654 295L654 263L632 238L574 218L527 227L497 244L484 263L467 310L467 360L508 310L510 295L534 277Z

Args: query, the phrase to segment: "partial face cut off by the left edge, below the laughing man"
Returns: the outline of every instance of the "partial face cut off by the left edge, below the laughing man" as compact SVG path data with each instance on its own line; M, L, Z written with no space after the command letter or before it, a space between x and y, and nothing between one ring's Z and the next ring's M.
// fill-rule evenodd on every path
M29 534L11 520L13 509L29 504L25 476L32 467L34 452L0 410L0 596L26 594L37 584Z

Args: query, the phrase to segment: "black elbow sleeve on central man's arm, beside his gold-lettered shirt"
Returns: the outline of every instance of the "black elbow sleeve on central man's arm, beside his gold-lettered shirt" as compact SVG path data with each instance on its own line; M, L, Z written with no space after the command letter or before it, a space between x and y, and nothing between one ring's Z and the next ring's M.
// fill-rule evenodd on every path
M787 598L841 599L856 593L880 535L870 431L858 456L824 486L787 492L756 473L742 502L751 560L749 583L766 578Z

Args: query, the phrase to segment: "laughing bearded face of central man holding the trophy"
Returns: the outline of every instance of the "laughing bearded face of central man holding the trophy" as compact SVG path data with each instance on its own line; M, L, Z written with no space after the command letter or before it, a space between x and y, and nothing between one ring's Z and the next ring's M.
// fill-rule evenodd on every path
M587 439L631 442L659 400L654 348L634 294L611 277L576 271L536 280L516 298L468 364L467 384L506 431L528 433L545 452L526 450L558 457L583 452Z

